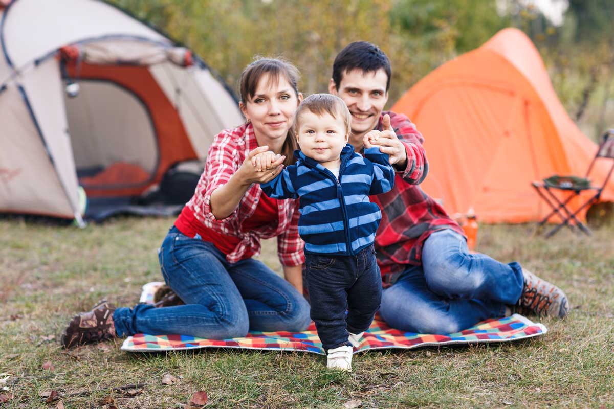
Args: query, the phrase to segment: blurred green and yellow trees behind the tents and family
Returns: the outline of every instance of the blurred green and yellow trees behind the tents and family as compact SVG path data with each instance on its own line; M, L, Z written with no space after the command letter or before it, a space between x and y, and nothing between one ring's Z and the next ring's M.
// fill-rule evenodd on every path
M333 59L354 40L389 55L389 105L454 56L499 29L526 32L570 117L596 138L614 126L614 1L550 0L109 0L192 48L236 90L254 58L284 56L306 94L327 90Z

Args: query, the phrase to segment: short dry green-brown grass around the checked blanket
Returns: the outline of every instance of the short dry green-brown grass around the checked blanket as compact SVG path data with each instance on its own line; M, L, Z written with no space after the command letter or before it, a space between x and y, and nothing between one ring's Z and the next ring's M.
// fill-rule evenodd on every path
M14 395L1 408L55 407L39 397L50 390L66 408L100 408L109 395L117 408L179 408L200 390L211 408L342 408L352 399L360 408L614 408L613 226L550 240L532 225L480 227L480 251L522 262L572 302L568 319L543 319L548 334L525 342L373 351L354 357L350 375L305 353L131 354L120 340L62 350L59 334L74 313L103 296L134 304L142 284L161 279L157 247L172 222L115 218L79 230L0 220L0 381L10 375L0 387ZM262 259L279 271L275 251L265 242ZM53 367L42 369L45 362ZM164 373L179 383L161 384ZM138 383L147 385L102 390Z

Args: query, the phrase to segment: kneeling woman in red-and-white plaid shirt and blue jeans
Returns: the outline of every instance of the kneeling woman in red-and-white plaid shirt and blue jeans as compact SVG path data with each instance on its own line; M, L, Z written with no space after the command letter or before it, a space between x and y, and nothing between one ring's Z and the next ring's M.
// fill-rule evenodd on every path
M293 161L290 128L302 98L297 82L297 69L279 59L258 59L241 74L239 107L247 121L216 136L195 194L158 253L166 283L185 305L114 309L103 301L72 319L61 337L64 348L141 332L223 339L249 329L306 329L298 203L269 199L258 185ZM252 166L251 158L268 150L278 154L276 168ZM287 281L252 259L260 239L270 237L278 237Z

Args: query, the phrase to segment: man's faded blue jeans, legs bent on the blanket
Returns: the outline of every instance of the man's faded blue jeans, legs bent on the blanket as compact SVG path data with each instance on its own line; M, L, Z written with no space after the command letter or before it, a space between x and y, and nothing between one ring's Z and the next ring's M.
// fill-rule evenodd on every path
M424 242L422 266L408 267L384 290L379 313L401 331L450 334L504 316L523 281L520 264L470 254L465 239L446 229Z

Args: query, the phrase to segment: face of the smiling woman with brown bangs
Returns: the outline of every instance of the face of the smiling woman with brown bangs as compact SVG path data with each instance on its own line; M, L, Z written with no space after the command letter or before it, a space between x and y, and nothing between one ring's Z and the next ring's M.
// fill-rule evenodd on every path
M270 74L263 75L254 96L240 104L241 112L254 126L260 145L286 139L300 102L286 77L279 75L277 82L274 79Z

